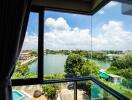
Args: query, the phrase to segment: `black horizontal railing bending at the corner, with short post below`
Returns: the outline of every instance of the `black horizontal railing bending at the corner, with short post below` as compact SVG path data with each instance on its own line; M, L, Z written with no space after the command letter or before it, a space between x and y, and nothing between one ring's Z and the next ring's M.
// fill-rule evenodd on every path
M12 80L12 85L13 86L22 86L22 85L54 84L54 83L74 82L74 100L77 100L78 82L81 82L81 81L83 81L83 82L92 81L93 83L98 85L100 88L102 88L104 91L111 94L111 96L116 98L117 100L129 100L129 98L118 93L117 91L108 87L107 85L100 82L99 80L97 80L94 77L68 78L68 79L61 79L61 80L43 80L43 81L40 81L40 80L35 79L35 78L34 79L15 79L15 80ZM92 97L90 97L90 98L92 98Z

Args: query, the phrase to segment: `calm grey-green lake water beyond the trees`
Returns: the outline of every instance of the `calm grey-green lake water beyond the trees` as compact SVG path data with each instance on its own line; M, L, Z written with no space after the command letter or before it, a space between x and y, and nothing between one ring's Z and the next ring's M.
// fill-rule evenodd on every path
M67 55L61 54L47 54L44 56L44 74L63 74L64 65L67 59ZM94 61L100 69L107 69L110 64L108 62ZM37 61L29 65L30 71L37 73Z

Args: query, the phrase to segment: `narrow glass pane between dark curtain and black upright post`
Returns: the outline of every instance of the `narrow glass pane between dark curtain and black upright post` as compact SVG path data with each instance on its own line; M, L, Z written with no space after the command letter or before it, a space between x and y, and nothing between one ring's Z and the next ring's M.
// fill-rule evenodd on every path
M12 79L37 78L38 14L30 13L22 50Z

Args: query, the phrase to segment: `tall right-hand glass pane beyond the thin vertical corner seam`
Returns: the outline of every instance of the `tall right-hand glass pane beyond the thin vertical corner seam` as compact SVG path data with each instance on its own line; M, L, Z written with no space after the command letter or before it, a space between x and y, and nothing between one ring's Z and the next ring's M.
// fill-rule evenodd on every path
M121 5L112 1L93 16L92 60L98 79L132 98L132 15Z

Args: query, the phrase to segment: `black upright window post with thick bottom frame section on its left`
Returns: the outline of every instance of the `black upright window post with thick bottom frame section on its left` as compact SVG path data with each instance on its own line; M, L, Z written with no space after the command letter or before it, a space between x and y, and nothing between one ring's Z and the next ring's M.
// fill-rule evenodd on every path
M43 82L44 10L34 11L31 9L31 12L38 14L38 74L37 78L12 79L12 85L14 86L41 84Z

